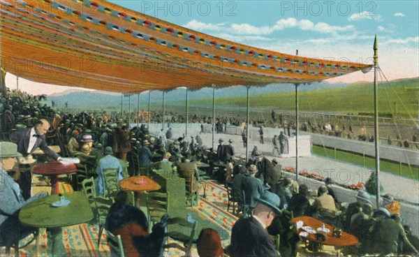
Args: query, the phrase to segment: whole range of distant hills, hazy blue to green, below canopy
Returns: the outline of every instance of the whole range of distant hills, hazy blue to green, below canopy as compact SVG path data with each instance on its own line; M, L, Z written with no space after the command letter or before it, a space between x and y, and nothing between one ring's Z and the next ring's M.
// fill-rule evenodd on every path
M300 110L341 113L373 112L374 91L372 82L353 84L332 84L315 82L300 85ZM380 112L395 117L418 117L419 78L381 82L378 85ZM265 87L251 87L251 105L258 108L293 110L295 107L295 86L272 84ZM246 106L245 87L224 87L216 89L216 105L219 108L243 108ZM185 90L175 89L166 92L166 106L183 108ZM78 110L121 110L121 94L99 91L71 91L69 94L48 96L59 108L68 103L68 108ZM128 110L128 96L123 98L124 111ZM152 91L153 108L161 108L161 91ZM131 110L136 110L138 95L131 96ZM208 108L212 105L212 88L189 90L189 106ZM140 109L148 108L148 93L140 94Z

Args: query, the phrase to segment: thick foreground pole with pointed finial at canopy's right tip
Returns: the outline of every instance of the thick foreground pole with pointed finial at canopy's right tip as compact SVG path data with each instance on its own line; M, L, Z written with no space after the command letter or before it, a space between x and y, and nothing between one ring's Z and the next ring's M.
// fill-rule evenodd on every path
M380 203L380 180L378 175L380 174L380 152L378 149L378 83L377 83L377 72L378 72L378 47L377 47L377 35L374 39L374 147L376 153L376 204Z

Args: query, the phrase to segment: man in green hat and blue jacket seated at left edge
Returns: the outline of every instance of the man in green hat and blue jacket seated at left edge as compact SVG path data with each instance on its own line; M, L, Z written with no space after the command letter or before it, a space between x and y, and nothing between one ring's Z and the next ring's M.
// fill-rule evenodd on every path
M47 196L47 193L40 193L24 200L19 184L10 177L18 169L17 159L20 158L22 158L22 154L17 152L17 145L12 142L0 142L0 246L11 247L34 233L36 228L20 223L18 218L20 208L38 198Z

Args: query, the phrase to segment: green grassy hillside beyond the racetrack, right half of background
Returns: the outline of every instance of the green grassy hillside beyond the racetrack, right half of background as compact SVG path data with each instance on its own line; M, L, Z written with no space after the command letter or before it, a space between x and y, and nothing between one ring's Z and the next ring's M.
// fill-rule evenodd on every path
M347 87L318 91L300 91L300 111L373 113L374 87L371 82L358 82ZM378 112L393 117L418 119L419 78L383 82L378 85ZM191 105L210 105L212 98L191 101ZM246 106L246 96L216 98L216 105ZM293 91L250 96L252 107L294 110Z

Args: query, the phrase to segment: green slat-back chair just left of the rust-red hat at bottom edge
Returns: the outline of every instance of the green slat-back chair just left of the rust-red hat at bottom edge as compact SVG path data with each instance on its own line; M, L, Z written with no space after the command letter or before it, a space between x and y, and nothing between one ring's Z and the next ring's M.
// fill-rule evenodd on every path
M167 221L166 242L167 237L173 240L184 243L185 254L184 256L191 256L191 248L193 244L193 237L196 233L197 221L189 222L187 219L181 217L170 218ZM170 247L166 247L170 248Z

